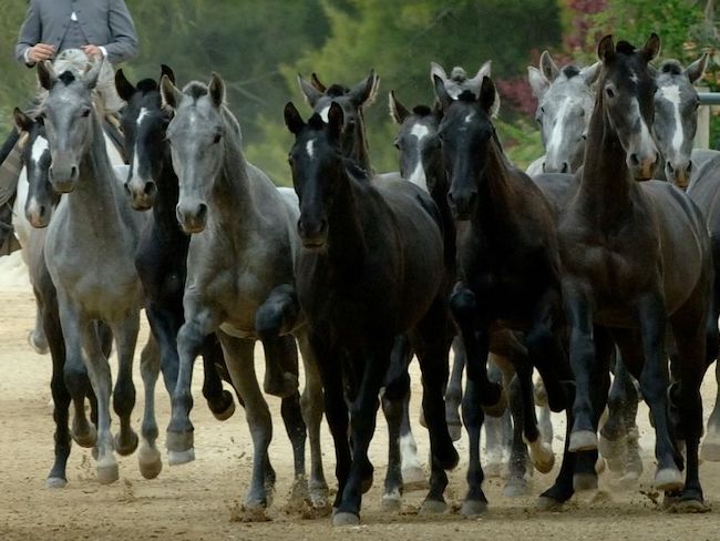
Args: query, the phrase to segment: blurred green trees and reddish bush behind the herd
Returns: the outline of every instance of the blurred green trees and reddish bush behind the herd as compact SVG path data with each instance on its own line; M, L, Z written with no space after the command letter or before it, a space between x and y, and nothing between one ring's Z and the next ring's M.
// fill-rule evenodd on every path
M181 83L228 82L228 101L244 130L248 157L277 183L288 183L290 136L282 106L302 104L296 76L317 72L326 83L354 85L374 69L381 78L368 110L377 171L397 169L387 95L394 89L408 106L430 104L430 61L474 73L493 60L503 96L498 130L512 159L526 165L542 153L533 123L526 67L543 49L563 61L594 61L598 37L614 33L641 44L662 38L662 58L688 62L719 44L708 0L127 0L142 54L123 68L131 80L157 76L171 65ZM27 2L0 0L0 135L10 113L34 88L34 71L13 60ZM708 84L717 88L713 54ZM713 123L714 124L714 123ZM720 132L720 130L716 130ZM720 135L713 135L720 144Z

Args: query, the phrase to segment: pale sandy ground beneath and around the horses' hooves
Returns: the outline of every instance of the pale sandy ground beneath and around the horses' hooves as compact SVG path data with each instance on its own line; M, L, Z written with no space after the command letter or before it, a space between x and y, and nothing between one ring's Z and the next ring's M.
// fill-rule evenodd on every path
M668 514L648 497L648 482L655 470L651 458L652 433L647 409L640 407L641 442L646 472L638 487L620 491L608 474L600 478L600 490L576 497L562 512L538 512L535 501L552 484L556 470L535 473L532 496L508 499L502 496L503 481L490 479L485 492L491 501L481 519L465 520L456 509L465 490L466 439L457 443L461 466L451 473L448 499L453 511L439 517L420 517L416 510L422 491L404 496L400 512L380 509L387 430L382 419L372 442L376 483L363 499L362 525L333 529L328 518L305 519L286 508L292 480L292 460L279 416L279 400L268 399L277 420L270 458L278 473L274 502L267 522L238 521L249 479L251 445L241 410L225 421L216 421L202 398L202 365L196 367L194 394L196 460L165 468L152 481L140 474L136 457L120 459L119 482L100 486L88 449L73 446L64 489L44 487L52 463L52 414L49 357L35 355L27 344L33 323L33 299L17 254L0 258L0 540L80 539L174 539L174 540L265 540L265 539L613 539L613 540L714 540L720 538L720 465L703 463L701 478L708 502L714 512L701 516ZM142 338L147 334L143 325ZM259 357L259 356L258 356ZM261 371L261 359L258 359ZM137 365L137 363L136 363ZM416 368L414 368L416 370ZM260 374L261 376L261 374ZM137 374L138 404L133 415L140 430L142 380ZM413 371L413 419L418 418L420 378ZM158 387L158 423L162 445L169 404ZM714 381L706 379L706 415L714 398ZM555 417L559 421L562 417ZM559 422L556 432L562 430ZM428 453L428 437L415 433L422 457ZM326 474L331 487L335 461L332 443L323 427ZM555 450L562 447L555 441ZM163 458L164 461L165 457ZM559 459L559 457L558 457ZM308 459L309 460L309 459ZM559 462L559 460L557 461ZM557 469L557 467L556 467Z

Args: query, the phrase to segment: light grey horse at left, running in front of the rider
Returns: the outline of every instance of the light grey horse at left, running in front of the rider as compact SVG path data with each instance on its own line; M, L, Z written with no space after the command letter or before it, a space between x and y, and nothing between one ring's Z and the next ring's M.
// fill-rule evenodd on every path
M133 256L144 217L132 211L122 193L92 104L91 91L101 68L97 63L85 73L58 74L44 62L38 64L38 73L49 91L40 113L52 161L49 177L58 192L68 194L50 223L44 256L58 289L66 355L82 358L97 397L97 479L111 483L119 478L114 451L130 455L137 447L131 427L135 404L132 365L143 295ZM114 440L110 431L112 380L95 331L97 320L110 327L116 341L120 369L113 405L121 427ZM147 375L157 379L158 369L156 355L145 357L143 379ZM145 405L148 417L154 422L152 396ZM160 472L156 430L146 432L146 426L144 422L141 471L154 477Z

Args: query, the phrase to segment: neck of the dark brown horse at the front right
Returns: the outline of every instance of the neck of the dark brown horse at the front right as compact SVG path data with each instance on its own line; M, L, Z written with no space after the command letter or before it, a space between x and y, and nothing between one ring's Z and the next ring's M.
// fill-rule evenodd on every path
M585 165L576 195L576 204L592 210L584 213L599 223L614 223L630 203L632 178L625 162L626 153L610 126L598 95L585 146Z

